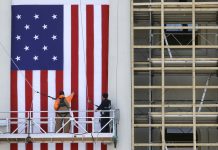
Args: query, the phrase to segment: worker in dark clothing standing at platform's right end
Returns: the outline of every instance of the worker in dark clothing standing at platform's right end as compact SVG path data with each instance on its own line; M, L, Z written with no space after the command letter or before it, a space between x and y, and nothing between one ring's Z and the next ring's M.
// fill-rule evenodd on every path
M110 109L111 109L111 101L108 99L108 93L104 93L102 94L101 104L96 109L96 111L102 110L100 112L102 117L100 119L100 124L101 124L101 132L103 133L110 132L110 127L109 127L110 118L104 118L104 117L110 117L110 111L109 111Z

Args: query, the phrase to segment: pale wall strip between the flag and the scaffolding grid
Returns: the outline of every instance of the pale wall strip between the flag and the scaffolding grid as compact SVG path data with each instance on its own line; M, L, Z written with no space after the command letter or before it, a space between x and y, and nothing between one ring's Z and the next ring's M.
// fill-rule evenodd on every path
M109 98L112 99L113 105L120 109L117 150L130 150L130 1L110 1ZM112 146L110 149L113 149Z

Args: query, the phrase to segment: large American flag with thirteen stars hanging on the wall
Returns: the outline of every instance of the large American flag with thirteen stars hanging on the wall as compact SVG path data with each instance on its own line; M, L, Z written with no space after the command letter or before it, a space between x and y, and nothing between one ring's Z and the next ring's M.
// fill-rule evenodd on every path
M76 93L72 110L95 109L89 99L100 104L101 94L108 90L108 25L107 0L14 0L11 111L48 111L34 115L54 117L54 101L36 91L56 97L60 90L65 95ZM53 132L49 124L41 126ZM105 150L107 146L83 142L11 144L11 150L26 149Z

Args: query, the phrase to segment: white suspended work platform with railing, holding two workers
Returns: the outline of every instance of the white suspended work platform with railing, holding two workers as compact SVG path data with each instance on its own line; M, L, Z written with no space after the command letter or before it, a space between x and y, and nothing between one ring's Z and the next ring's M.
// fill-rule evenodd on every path
M94 113L94 111L72 111L71 113L90 112ZM0 142L103 142L114 143L116 146L119 110L101 110L101 112L110 112L111 115L110 117L55 117L57 112L54 112L53 116L48 117L47 111L0 112ZM65 120L57 131L55 131L56 119ZM103 127L100 127L101 119L108 120ZM70 123L71 130L66 133L63 129L68 123ZM104 133L102 130L106 126L109 126L110 131Z

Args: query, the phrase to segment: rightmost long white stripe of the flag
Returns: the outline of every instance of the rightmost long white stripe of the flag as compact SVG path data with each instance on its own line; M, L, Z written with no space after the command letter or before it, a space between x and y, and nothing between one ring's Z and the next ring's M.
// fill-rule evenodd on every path
M102 87L102 35L101 35L101 5L94 7L94 104L101 103L101 87ZM99 117L100 113L95 113L95 117ZM98 119L95 120L95 132L99 131L100 124ZM94 150L101 150L99 142L94 144Z

